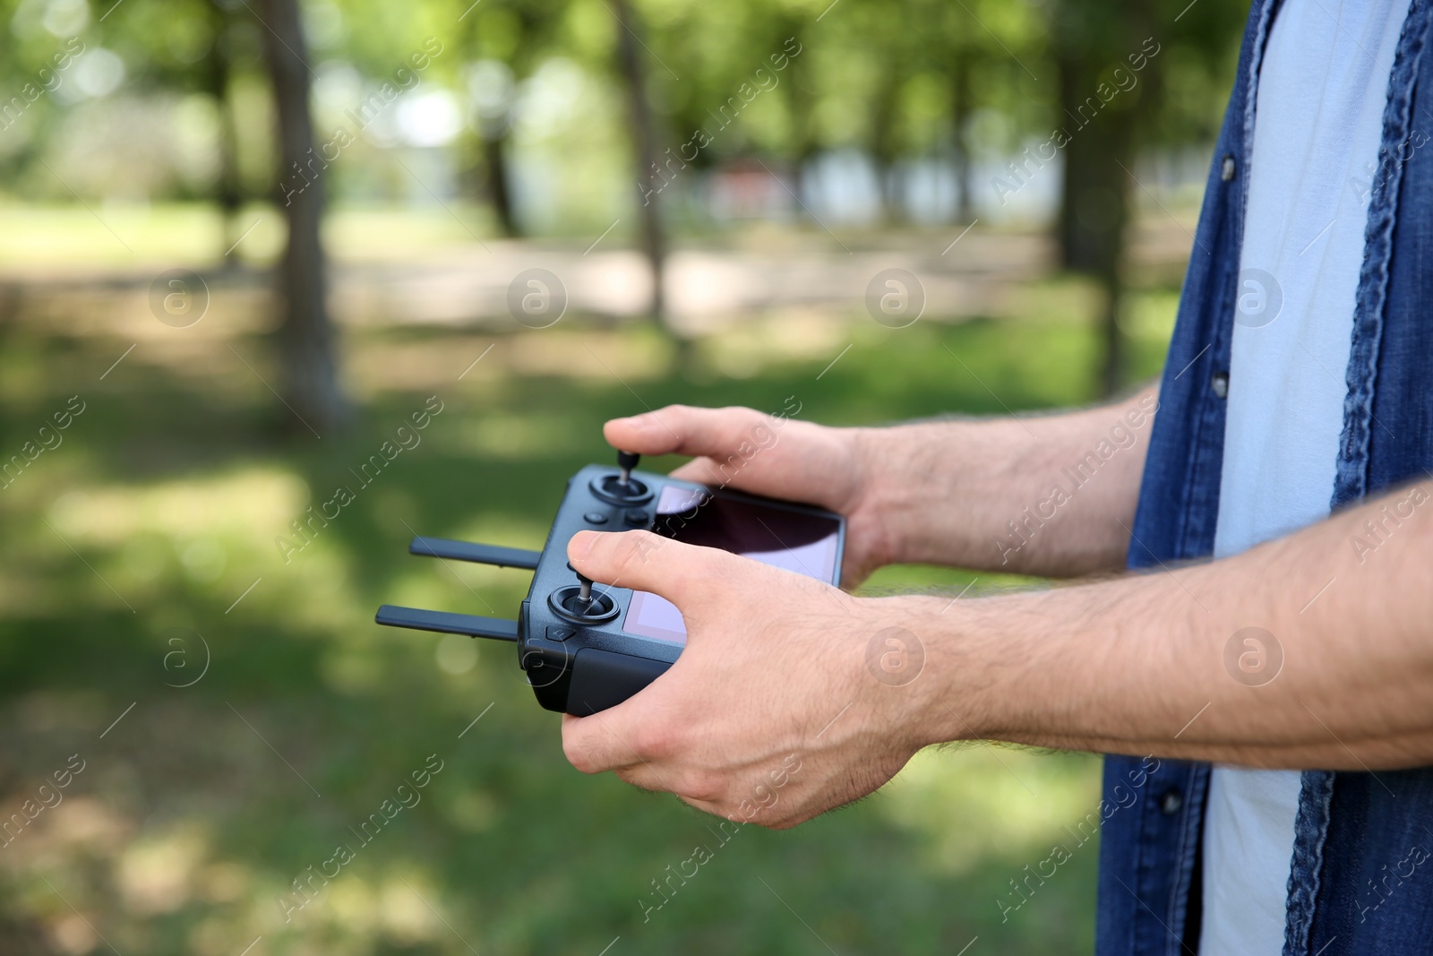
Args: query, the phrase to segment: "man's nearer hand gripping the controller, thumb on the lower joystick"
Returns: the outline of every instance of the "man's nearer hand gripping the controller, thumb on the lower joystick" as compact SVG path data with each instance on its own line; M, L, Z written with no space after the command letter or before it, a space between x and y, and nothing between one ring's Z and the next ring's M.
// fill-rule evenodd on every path
M666 598L688 635L636 697L563 717L577 770L613 770L728 820L784 828L874 791L920 748L901 731L911 687L867 665L873 639L886 651L877 635L901 599L853 598L648 532L580 532L567 556L596 582Z

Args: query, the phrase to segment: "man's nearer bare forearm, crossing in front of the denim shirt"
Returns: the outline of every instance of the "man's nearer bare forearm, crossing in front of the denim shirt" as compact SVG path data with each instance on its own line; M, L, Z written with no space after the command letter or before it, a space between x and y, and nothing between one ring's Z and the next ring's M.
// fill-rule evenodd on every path
M1413 486L1208 565L949 611L909 599L911 629L930 636L911 727L920 742L1262 767L1433 763L1429 500ZM1277 672L1274 654L1262 672L1238 666L1254 646L1230 644L1248 626L1273 635Z

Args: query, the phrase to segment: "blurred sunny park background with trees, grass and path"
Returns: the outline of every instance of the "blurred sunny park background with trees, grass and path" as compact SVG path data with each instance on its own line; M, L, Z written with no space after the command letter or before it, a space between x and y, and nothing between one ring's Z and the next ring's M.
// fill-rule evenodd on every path
M408 537L539 546L612 416L1156 374L1244 13L0 1L0 953L1088 953L1096 841L1027 877L1098 757L927 751L719 844L567 767L512 648L373 612L514 609Z

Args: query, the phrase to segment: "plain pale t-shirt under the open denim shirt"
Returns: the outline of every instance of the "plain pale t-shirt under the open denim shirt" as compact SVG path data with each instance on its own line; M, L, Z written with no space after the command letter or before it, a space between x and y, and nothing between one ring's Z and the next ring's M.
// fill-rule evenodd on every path
M1285 0L1274 19L1247 171L1215 558L1328 516L1369 193L1407 9ZM1201 956L1283 952L1298 790L1297 771L1214 768Z

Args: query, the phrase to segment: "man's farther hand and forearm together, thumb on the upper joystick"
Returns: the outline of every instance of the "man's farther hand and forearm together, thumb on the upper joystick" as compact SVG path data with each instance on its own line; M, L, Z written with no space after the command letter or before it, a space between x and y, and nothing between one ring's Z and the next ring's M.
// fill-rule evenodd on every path
M669 406L605 431L626 451L696 456L676 477L845 515L841 583L853 588L890 563L1122 569L1156 406L1146 390L1065 416L890 429Z

